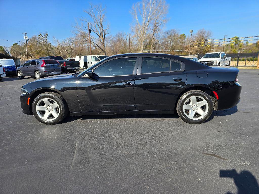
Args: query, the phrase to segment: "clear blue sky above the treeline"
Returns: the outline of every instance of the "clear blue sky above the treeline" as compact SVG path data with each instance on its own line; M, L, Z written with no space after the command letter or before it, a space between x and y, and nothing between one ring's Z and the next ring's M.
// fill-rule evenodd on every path
M25 4L26 2L26 4ZM81 17L89 2L107 7L106 19L110 34L130 32L133 18L129 13L137 1L6 1L0 0L0 39L23 41L23 32L28 37L39 32L49 34L50 39L65 39L74 36L73 25ZM164 30L176 28L180 33L190 34L205 28L213 32L215 39L233 36L259 35L259 1L166 1L169 4L168 18ZM222 8L222 9L220 9ZM6 22L3 22L6 21ZM0 45L9 47L12 41L0 40Z

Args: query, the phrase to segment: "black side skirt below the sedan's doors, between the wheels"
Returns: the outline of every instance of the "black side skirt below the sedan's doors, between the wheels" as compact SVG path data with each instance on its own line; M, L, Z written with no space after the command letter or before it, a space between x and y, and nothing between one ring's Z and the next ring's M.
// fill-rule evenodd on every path
M82 115L130 115L130 114L174 114L174 110L130 110L70 113L71 116Z

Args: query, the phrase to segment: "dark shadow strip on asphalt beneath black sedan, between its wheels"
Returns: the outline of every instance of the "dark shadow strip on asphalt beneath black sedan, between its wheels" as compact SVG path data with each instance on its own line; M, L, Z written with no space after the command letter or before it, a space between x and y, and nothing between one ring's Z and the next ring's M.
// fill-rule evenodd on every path
M67 123L76 120L93 119L127 119L127 118L179 118L178 114L130 114L130 115L87 115L87 116L67 116L61 123Z

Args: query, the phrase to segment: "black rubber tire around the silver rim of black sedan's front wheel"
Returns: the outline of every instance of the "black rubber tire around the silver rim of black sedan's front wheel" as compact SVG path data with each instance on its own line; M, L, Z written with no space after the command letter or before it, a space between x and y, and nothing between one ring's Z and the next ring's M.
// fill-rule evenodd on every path
M59 111L60 111L59 116L53 121L45 121L37 113L36 105L40 100L42 100L44 98L51 98L51 99L55 100L57 102L57 104L59 105ZM66 116L68 114L68 106L67 106L66 101L64 100L64 98L60 94L53 93L53 92L45 92L45 93L42 93L42 94L38 95L33 100L33 102L32 102L32 113L33 113L34 117L38 121L40 121L41 123L49 124L49 125L57 124L57 123L61 122L64 118L66 118Z

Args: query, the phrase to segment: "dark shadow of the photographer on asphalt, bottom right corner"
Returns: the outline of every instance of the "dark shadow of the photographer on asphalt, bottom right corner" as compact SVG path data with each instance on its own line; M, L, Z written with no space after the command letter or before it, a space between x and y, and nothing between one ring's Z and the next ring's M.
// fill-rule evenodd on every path
M238 173L235 169L232 170L220 170L219 177L221 178L233 178L233 181L237 187L237 194L259 193L259 185L255 176L248 170L242 170ZM226 194L232 194L227 192Z

